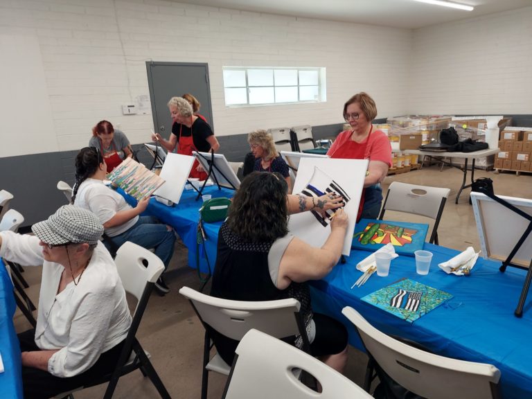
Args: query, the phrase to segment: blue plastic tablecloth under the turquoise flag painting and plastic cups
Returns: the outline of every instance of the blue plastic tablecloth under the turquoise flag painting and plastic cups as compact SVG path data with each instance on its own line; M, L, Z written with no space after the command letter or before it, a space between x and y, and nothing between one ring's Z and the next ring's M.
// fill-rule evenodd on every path
M350 344L362 349L355 328L341 313L350 305L373 326L388 334L412 339L438 355L495 365L501 371L499 382L504 398L532 398L532 297L522 318L514 316L526 272L508 267L499 272L500 263L479 258L471 275L445 274L438 263L449 260L458 251L425 243L434 257L426 276L416 274L414 258L400 256L392 260L387 277L371 276L362 287L351 286L362 275L355 265L368 251L351 251L347 262L337 265L321 281L312 282L312 308L342 321L349 330ZM409 323L376 308L361 298L410 278L449 292L450 301Z

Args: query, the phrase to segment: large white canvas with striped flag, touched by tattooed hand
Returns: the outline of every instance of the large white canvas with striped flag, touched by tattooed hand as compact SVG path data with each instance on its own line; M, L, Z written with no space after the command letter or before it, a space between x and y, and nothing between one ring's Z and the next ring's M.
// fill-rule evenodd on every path
M351 242L355 231L358 205L364 188L364 179L369 161L367 159L330 159L330 158L301 158L299 169L292 193L301 193L307 185L314 168L318 168L324 174L330 176L350 197L344 207L348 214L349 222L344 239L342 254L351 254ZM310 212L290 215L288 229L294 236L307 242L312 247L321 247L330 234L330 225L323 226Z

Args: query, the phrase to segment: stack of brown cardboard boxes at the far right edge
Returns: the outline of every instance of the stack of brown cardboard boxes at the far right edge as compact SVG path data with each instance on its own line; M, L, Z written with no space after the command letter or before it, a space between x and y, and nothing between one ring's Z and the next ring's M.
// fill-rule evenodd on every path
M495 168L531 171L532 129L530 127L506 127L501 132Z

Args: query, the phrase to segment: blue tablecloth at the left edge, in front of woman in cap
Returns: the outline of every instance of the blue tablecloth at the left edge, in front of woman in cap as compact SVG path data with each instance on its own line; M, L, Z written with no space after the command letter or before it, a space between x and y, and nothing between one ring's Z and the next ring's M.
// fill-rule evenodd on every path
M4 368L0 373L0 398L22 398L20 347L13 326L15 307L13 285L0 259L0 355Z

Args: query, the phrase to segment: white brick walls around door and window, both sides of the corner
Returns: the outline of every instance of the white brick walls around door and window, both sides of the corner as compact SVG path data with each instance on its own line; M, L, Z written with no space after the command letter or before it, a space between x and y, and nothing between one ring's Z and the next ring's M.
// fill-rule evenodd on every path
M148 140L151 115L121 114L149 92L147 60L209 63L218 135L339 123L362 90L379 116L529 113L531 19L526 8L412 31L161 0L0 0L0 35L39 39L59 150L87 145L103 118ZM326 67L327 102L226 108L226 65Z

